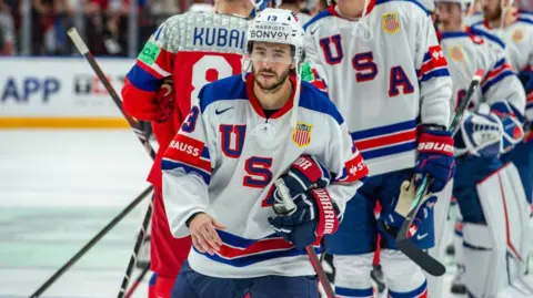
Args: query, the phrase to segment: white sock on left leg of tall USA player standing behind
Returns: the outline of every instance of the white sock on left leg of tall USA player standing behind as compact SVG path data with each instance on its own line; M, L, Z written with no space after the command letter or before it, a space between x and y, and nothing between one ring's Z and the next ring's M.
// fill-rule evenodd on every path
M372 288L370 281L370 271L372 270L372 259L374 253L354 255L354 256L339 256L333 257L333 265L335 266L335 287L368 290ZM338 295L342 295L338 292ZM344 295L342 295L344 296ZM372 294L371 294L372 296ZM369 297L369 296L348 296L345 297Z

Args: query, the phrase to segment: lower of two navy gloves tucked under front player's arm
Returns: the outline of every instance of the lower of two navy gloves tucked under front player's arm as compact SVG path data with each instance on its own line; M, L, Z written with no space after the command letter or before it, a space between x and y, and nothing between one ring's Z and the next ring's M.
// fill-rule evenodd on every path
M316 242L339 227L340 209L323 188L311 189L294 198L296 210L291 215L269 217L275 233L298 249Z

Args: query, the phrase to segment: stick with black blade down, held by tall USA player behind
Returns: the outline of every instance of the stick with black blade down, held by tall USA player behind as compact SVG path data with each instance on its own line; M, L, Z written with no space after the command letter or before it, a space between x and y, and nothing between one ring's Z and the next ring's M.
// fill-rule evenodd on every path
M470 99L474 94L474 91L480 85L481 79L483 78L484 71L477 70L472 78L472 82L466 90L466 94L457 107L455 115L453 116L452 123L450 124L449 132L454 133L455 129L457 127L461 117L463 116L464 111L469 106ZM416 214L419 213L420 207L424 203L422 197L428 194L428 188L430 187L431 178L426 175L422 179L422 184L416 189L416 195L414 197L413 203L411 204L411 210L405 216L405 222L403 222L400 232L398 233L395 245L396 248L400 249L405 256L416 263L422 269L428 271L432 276L441 276L446 271L444 265L442 265L439 260L434 259L429 254L424 253L422 249L416 247L415 244L411 242L409 238L408 232L413 222L416 218Z

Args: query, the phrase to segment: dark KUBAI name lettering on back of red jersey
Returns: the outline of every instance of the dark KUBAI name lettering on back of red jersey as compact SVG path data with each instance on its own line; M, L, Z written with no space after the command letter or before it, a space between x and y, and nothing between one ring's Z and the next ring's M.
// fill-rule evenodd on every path
M192 44L198 47L209 45L221 48L244 48L245 32L239 30L228 30L225 28L194 28L192 33Z

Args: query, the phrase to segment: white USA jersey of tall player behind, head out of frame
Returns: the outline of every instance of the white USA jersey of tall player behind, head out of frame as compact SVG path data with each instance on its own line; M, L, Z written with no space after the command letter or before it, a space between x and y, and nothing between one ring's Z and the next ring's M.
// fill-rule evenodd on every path
M315 80L324 80L358 148L378 175L413 167L416 125L449 125L452 82L428 12L416 1L370 0L359 21L335 7L304 25ZM365 39L364 23L373 34ZM361 31L363 30L363 31Z

